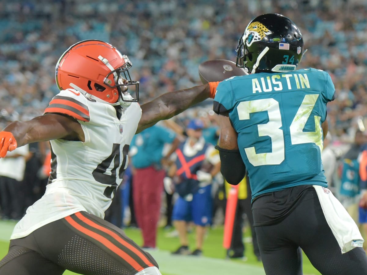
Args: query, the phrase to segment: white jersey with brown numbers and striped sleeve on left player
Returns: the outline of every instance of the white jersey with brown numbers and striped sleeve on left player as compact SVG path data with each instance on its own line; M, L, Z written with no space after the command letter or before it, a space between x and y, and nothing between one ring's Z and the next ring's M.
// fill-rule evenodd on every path
M141 118L138 103L121 109L87 99L76 90L61 91L45 113L70 115L85 141L51 140L51 174L46 192L15 226L11 239L70 214L87 211L103 219L128 165L128 149Z

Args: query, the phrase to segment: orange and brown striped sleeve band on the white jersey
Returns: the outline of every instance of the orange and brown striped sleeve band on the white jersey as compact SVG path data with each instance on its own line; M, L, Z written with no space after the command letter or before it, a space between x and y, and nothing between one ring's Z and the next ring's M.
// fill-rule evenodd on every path
M67 96L55 96L44 111L46 113L67 114L77 120L90 121L88 106Z

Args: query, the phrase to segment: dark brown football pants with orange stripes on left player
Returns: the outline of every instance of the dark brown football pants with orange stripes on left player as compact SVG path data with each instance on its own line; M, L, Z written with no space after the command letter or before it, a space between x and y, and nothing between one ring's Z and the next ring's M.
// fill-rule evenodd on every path
M0 275L61 275L68 269L86 275L132 275L158 267L149 253L124 232L86 212L46 224L10 241Z

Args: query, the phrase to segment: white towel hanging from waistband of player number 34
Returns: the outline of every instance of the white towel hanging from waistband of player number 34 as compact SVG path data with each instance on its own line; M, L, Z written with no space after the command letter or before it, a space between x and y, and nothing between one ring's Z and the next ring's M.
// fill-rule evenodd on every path
M359 246L362 247L364 239L359 232L355 221L350 217L344 206L334 197L328 188L314 185L317 196L324 212L328 225L333 231L335 239L342 253Z

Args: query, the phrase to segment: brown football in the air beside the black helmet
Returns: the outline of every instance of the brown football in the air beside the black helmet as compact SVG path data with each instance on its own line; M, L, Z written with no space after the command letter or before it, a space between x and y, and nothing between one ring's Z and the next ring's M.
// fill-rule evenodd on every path
M226 59L208 60L199 65L199 76L203 84L246 74L243 68L236 67L235 62Z

